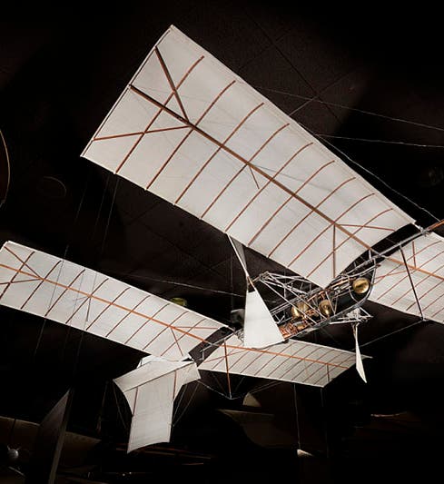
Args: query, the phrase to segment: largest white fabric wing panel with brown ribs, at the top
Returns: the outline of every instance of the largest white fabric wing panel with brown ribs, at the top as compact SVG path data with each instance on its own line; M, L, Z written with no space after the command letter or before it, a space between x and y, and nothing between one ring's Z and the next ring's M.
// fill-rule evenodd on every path
M83 155L322 287L412 222L173 26Z

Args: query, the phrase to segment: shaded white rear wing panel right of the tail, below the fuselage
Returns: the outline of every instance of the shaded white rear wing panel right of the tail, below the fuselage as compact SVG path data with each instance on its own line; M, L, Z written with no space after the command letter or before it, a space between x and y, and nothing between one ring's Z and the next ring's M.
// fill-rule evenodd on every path
M199 365L199 370L325 387L355 362L354 352L305 341L289 340L266 350L253 350L244 348L233 335Z

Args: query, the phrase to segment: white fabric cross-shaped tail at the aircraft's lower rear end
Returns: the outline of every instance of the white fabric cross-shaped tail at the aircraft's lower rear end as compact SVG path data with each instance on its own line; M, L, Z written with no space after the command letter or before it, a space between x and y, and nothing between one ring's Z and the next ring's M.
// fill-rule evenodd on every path
M114 380L133 413L128 452L170 441L174 399L183 385L199 378L194 362L150 356L142 366Z

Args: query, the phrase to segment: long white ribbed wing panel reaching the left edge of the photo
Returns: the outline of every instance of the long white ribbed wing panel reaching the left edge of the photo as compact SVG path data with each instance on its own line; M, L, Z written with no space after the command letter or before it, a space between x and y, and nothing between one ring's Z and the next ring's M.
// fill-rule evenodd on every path
M14 242L0 249L0 304L169 360L224 327L173 302Z

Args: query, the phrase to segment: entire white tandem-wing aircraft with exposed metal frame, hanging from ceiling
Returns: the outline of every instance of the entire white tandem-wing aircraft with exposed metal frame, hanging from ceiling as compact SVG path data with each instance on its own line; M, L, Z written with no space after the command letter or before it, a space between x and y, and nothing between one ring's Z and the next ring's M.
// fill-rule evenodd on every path
M173 402L200 371L324 387L356 365L368 299L444 322L444 241L291 117L171 26L82 153L226 233L246 280L242 329L15 242L0 303L146 352L115 379L133 413L128 451L170 440ZM411 225L414 235L375 245ZM243 248L286 268L252 277ZM269 307L258 287L276 294ZM350 324L356 351L300 337ZM192 358L199 348L199 358Z

